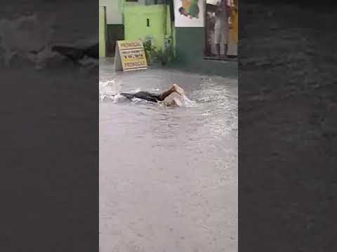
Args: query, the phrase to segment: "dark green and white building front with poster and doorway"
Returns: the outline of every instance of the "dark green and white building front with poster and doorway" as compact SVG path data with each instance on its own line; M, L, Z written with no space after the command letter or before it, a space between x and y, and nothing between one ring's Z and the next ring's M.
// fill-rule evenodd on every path
M227 19L223 18L226 25L216 27L221 4L232 8L227 8ZM174 0L176 64L204 73L237 76L238 10L234 5L236 0ZM225 26L227 34L218 43L219 53L216 30L223 34Z

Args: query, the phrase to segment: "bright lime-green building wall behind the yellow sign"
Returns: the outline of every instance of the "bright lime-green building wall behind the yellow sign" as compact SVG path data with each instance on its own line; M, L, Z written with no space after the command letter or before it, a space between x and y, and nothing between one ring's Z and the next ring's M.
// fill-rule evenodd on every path
M145 5L142 3L115 0L122 24L107 24L104 29L104 12L100 6L100 57L114 57L118 40L146 41L150 39L157 50L164 50L167 43L174 45L174 23L171 22L170 6L166 4ZM164 2L164 1L163 1ZM105 3L102 1L102 4ZM147 27L147 19L149 27ZM107 20L107 18L105 18ZM105 38L105 40L104 40Z

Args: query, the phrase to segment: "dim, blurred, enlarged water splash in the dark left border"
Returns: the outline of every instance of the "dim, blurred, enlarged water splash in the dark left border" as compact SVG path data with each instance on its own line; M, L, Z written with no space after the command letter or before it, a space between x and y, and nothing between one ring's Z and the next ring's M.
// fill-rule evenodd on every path
M55 38L55 17L48 20L36 14L22 15L15 19L0 19L0 63L11 65L14 57L32 62L36 69L43 69L52 59L64 56L53 52L53 45L84 48L96 43L97 36L83 38L72 43L60 43ZM3 52L1 55L1 51ZM98 66L98 59L84 57L81 66Z

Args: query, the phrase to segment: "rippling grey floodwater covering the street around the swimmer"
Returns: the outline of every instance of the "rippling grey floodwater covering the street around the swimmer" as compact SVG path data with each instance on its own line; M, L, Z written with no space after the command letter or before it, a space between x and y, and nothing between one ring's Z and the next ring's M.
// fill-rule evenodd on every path
M100 252L237 251L237 80L100 62L110 92L172 83L193 106L100 102Z

